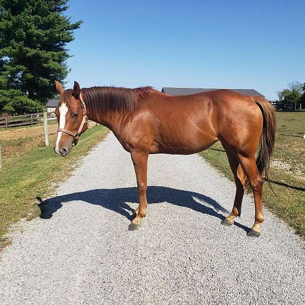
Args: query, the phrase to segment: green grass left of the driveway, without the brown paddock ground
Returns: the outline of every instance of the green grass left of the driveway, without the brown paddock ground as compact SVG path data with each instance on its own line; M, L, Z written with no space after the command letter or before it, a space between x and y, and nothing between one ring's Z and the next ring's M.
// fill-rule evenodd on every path
M5 166L0 170L0 248L8 241L4 234L9 226L21 218L29 220L39 216L36 197L51 195L56 182L66 179L73 165L99 143L107 132L108 129L101 125L88 129L67 158L57 156L52 144L45 147L41 143L34 148L29 147L17 159L7 156ZM7 144L13 149L12 145L19 145L20 142L11 141Z

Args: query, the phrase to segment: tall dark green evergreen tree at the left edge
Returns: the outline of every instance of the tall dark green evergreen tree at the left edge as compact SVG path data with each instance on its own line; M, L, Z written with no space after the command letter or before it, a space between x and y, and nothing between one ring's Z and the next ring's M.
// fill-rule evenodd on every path
M64 15L68 0L0 0L0 114L39 112L64 83L66 44L82 21Z

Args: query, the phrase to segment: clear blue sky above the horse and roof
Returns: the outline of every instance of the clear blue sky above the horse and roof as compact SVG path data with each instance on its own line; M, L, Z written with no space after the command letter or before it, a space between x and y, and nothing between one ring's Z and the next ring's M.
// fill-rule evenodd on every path
M305 1L70 0L66 87L254 88L305 82Z

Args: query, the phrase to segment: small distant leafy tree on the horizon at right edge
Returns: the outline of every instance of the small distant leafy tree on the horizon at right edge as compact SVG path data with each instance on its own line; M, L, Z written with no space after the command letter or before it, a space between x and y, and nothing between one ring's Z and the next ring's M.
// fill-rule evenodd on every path
M305 83L296 80L288 83L288 88L277 92L279 101L283 103L283 110L291 103L295 103L295 108L299 109L300 105L305 108Z

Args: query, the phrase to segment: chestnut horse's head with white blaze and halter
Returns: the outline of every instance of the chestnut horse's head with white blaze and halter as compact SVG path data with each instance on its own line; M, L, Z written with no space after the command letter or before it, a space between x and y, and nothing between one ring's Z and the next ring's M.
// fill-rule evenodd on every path
M56 154L67 157L79 136L88 128L86 106L78 82L74 82L73 90L64 90L58 81L55 81L55 85L60 100L55 110L58 130L54 150Z

